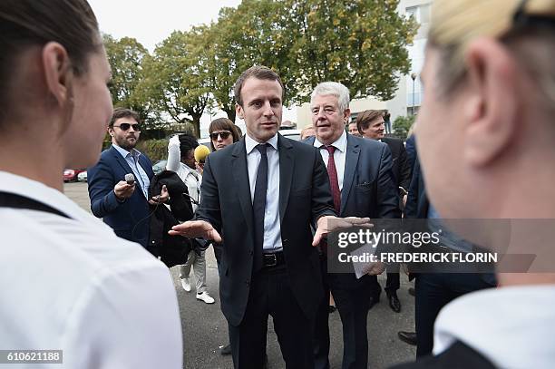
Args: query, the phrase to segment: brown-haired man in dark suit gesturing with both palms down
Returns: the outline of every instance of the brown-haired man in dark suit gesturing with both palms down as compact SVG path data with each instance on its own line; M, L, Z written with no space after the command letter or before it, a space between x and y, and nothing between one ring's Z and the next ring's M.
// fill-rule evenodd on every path
M336 213L320 154L277 133L283 93L279 76L266 67L241 74L236 111L247 135L209 155L197 219L171 232L223 238L220 300L240 369L263 366L268 315L286 367L314 366L312 319L324 294L313 245Z

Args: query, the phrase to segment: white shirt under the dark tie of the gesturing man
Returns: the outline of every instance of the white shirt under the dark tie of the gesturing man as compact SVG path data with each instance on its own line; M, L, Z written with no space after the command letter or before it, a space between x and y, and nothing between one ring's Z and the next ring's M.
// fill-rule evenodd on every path
M254 201L257 185L258 164L262 155L258 149L258 141L245 136L247 150L248 184L250 185L250 201ZM268 191L266 192L266 213L264 215L264 246L268 252L283 249L281 245L281 226L279 224L279 151L277 151L277 133L268 140Z

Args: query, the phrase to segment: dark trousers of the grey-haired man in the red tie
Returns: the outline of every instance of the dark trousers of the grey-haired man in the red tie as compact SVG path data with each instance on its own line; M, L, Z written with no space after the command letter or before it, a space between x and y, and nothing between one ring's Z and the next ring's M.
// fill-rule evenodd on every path
M331 286L337 311L343 325L342 369L366 369L368 367L368 333L366 330L370 296L368 286L345 289Z

